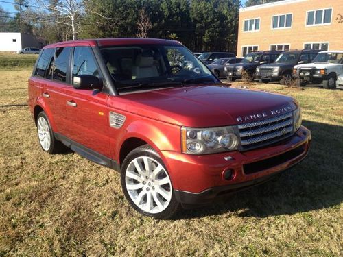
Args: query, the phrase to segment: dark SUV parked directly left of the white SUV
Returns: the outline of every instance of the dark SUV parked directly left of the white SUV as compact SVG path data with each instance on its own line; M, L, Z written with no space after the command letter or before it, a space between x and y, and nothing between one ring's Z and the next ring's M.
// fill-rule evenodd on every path
M256 69L255 79L263 83L280 82L286 84L292 79L293 67L296 64L310 63L319 50L294 50L281 53L272 64L263 64Z

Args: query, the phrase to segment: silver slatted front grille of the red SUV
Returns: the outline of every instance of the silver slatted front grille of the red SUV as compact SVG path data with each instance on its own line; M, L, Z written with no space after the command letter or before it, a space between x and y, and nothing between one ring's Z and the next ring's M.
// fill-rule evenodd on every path
M293 130L292 112L278 117L238 125L241 150L246 151L269 145L291 136Z

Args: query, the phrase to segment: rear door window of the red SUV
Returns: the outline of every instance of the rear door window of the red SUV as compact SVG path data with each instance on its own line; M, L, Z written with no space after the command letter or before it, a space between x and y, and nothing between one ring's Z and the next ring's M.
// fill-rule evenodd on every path
M53 80L66 82L71 47L56 48Z

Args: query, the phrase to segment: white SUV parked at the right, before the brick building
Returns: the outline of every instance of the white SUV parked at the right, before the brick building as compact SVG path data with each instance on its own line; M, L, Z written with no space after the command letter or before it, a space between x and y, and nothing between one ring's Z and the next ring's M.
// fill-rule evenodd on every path
M313 63L294 66L294 77L300 86L322 84L324 88L336 88L338 76L343 74L343 51L322 51Z

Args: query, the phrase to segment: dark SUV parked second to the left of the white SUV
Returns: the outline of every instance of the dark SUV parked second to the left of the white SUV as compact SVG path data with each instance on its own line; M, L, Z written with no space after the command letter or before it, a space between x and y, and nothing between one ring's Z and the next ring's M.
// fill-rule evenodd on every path
M257 66L274 62L280 53L281 51L254 51L248 53L240 63L226 67L226 77L230 81L241 79L243 71L253 77Z

